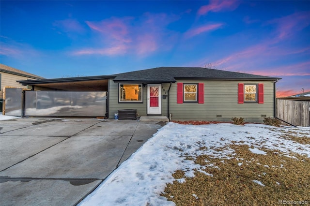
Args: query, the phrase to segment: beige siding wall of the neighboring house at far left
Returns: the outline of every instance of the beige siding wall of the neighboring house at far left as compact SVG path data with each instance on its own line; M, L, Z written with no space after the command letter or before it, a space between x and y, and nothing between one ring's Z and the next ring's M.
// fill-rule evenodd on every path
M28 80L28 79L34 79L34 78L29 78L25 76L19 76L16 74L8 74L4 72L0 72L1 74L1 91L0 91L0 99L3 99L3 88L4 87L16 87L16 88L27 88L26 86L22 86L16 80Z

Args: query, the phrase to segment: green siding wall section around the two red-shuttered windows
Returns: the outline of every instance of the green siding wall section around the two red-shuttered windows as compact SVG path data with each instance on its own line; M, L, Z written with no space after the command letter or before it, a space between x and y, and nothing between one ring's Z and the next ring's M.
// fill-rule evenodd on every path
M204 103L177 103L177 84L170 90L172 120L230 121L243 117L246 121L261 122L263 117L274 117L274 91L272 81L178 81L180 83L204 83ZM238 83L264 85L264 103L238 103ZM221 115L221 117L217 117Z

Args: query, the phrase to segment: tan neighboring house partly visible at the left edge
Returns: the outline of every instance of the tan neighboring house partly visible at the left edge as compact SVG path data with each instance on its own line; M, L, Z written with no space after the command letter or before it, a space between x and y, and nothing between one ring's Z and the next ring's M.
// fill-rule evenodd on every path
M3 90L4 88L26 88L20 85L17 80L44 79L41 76L30 74L4 64L0 64L0 111L2 112Z

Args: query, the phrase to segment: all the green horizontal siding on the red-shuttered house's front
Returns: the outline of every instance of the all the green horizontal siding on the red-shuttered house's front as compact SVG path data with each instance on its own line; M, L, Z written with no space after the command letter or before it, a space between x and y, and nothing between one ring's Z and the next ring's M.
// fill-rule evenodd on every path
M204 83L204 103L176 103L176 83L170 89L170 113L172 120L231 121L243 117L246 121L262 122L263 117L274 117L274 84L272 81L178 81L181 83ZM238 104L238 83L264 85L264 103ZM162 95L168 95L170 83L162 84ZM109 80L109 118L120 109L138 109L138 116L146 116L147 87L143 88L143 103L118 103L118 83ZM168 97L162 99L162 115L168 115ZM221 115L221 117L217 117Z

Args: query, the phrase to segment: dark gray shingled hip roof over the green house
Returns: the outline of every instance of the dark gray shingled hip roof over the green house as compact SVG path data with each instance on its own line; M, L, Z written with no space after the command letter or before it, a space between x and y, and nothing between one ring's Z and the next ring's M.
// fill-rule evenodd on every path
M177 79L207 80L207 79L248 79L248 80L278 80L278 77L229 72L202 67L158 67L122 74L115 74L115 82L176 82Z

